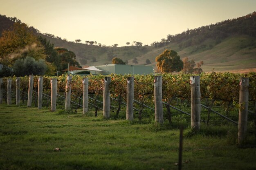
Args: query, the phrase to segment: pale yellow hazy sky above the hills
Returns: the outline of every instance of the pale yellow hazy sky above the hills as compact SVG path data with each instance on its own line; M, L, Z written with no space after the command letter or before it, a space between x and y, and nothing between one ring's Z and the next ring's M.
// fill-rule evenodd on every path
M0 14L41 33L102 45L154 41L256 11L256 0L0 0Z

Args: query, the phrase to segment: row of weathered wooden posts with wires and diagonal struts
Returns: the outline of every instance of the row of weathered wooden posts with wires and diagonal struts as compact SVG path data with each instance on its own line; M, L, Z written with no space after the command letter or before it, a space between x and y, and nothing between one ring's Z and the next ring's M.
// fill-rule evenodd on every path
M171 109L176 110L176 112L182 113L179 114L180 117L188 119L191 117L191 127L194 130L200 130L200 122L206 122L207 124L210 121L210 113L214 113L218 115L219 117L222 117L225 121L230 121L234 124L238 124L239 126L239 132L238 132L238 141L243 141L245 132L246 132L246 124L247 124L247 119L248 119L248 112L249 113L254 113L255 111L249 110L249 108L252 108L250 106L250 103L252 101L249 101L249 79L248 78L241 78L240 79L240 97L239 97L239 119L238 123L231 119L230 117L227 117L219 111L214 110L213 103L216 102L217 100L213 99L211 104L209 104L209 101L203 101L201 102L201 90L200 90L200 76L191 76L190 77L190 87L191 87L191 100L189 101L188 98L183 98L183 99L177 99L179 100L180 104L179 106L183 107L177 108L176 106L171 105L171 102L163 102L162 98L162 76L155 76L153 79L153 85L154 85L154 104L150 101L150 99L144 99L141 101L137 101L134 99L134 77L127 77L126 79L126 94L127 98L126 101L127 103L124 102L122 99L122 93L118 95L118 98L110 97L110 84L111 84L111 77L105 77L103 79L103 102L101 102L97 97L95 93L94 96L90 97L88 94L88 88L89 88L89 80L88 78L84 78L83 81L80 83L82 84L82 91L83 94L79 96L79 93L77 95L74 95L71 93L72 91L72 86L80 86L79 84L72 84L72 76L67 76L66 79L66 86L65 89L61 90L64 92L64 94L57 94L57 79L52 78L51 79L51 89L47 93L43 93L43 77L38 78L38 91L33 91L33 86L35 86L33 76L29 76L29 88L28 88L28 93L26 94L24 91L20 91L20 78L18 77L16 79L16 96L13 95L11 91L11 79L7 79L7 91L4 90L4 86L2 86L3 79L0 78L0 103L3 101L3 96L6 97L7 104L10 105L12 104L12 97L16 97L16 105L18 106L20 104L20 92L22 94L22 103L24 104L24 100L27 99L27 106L31 107L32 106L32 101L34 101L35 106L38 106L38 110L42 108L43 105L43 99L47 100L47 105L49 104L49 101L51 102L51 111L56 110L56 104L61 104L64 105L65 103L65 110L70 110L72 108L83 108L83 114L86 114L89 110L88 104L90 107L95 109L95 115L97 115L97 110L103 110L103 116L105 118L110 117L111 110L116 110L117 115L119 115L120 112L124 112L126 110L126 119L128 120L133 120L134 117L134 112L135 114L138 114L139 119L142 118L142 113L143 110L150 110L149 112L154 112L155 113L155 122L159 124L163 124L164 122L164 113L166 113L167 119L172 121L172 119L177 119L177 115L171 115ZM165 86L166 87L166 86ZM59 90L59 92L61 92ZM34 97L33 97L33 92L34 92ZM49 94L51 92L51 95ZM150 94L150 93L148 93ZM147 93L144 93L143 95L148 95ZM27 98L25 97L27 96ZM65 96L65 97L64 97ZM143 96L143 97L145 97ZM143 99L142 97L142 99ZM147 96L150 98L150 96ZM73 100L72 100L73 98ZM63 102L63 99L65 99L65 102ZM173 100L174 98L172 98ZM188 103L190 102L190 108L185 108L183 104L181 105L182 102L186 102L186 106L188 106ZM58 101L58 102L57 102ZM152 101L152 99L151 99ZM82 104L81 104L82 102ZM103 105L103 106L102 106ZM123 105L123 106L122 106ZM255 105L255 102L254 102ZM165 108L164 108L165 106ZM126 109L124 109L126 108ZM189 114L189 110L190 113ZM202 115L201 115L202 114ZM189 116L189 117L184 117L184 115ZM251 116L249 116L250 118ZM234 117L233 117L234 118Z

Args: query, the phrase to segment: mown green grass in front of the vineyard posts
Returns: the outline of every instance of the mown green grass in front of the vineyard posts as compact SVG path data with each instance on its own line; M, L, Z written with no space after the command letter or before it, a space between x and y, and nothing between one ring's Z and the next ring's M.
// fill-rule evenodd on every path
M101 113L102 114L102 113ZM179 123L155 127L47 108L0 105L1 170L173 170ZM153 117L153 116L152 116ZM237 126L206 126L190 135L183 122L183 170L255 170L256 148L236 146ZM251 135L250 142L255 142ZM251 145L252 146L252 145ZM255 143L254 143L255 146ZM54 148L61 148L56 152Z

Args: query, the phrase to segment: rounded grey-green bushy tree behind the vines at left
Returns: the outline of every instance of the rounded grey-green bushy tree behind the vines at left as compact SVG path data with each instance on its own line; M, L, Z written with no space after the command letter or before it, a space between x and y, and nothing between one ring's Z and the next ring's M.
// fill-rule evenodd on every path
M25 57L24 59L18 59L13 64L14 75L44 75L47 71L47 65L44 60L40 59L36 61L33 57Z

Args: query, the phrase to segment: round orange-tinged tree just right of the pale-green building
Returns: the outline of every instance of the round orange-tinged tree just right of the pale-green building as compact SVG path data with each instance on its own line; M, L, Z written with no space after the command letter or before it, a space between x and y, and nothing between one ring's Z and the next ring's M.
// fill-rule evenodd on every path
M179 72L183 68L183 62L180 55L174 50L166 49L163 53L155 58L157 69L162 73Z

